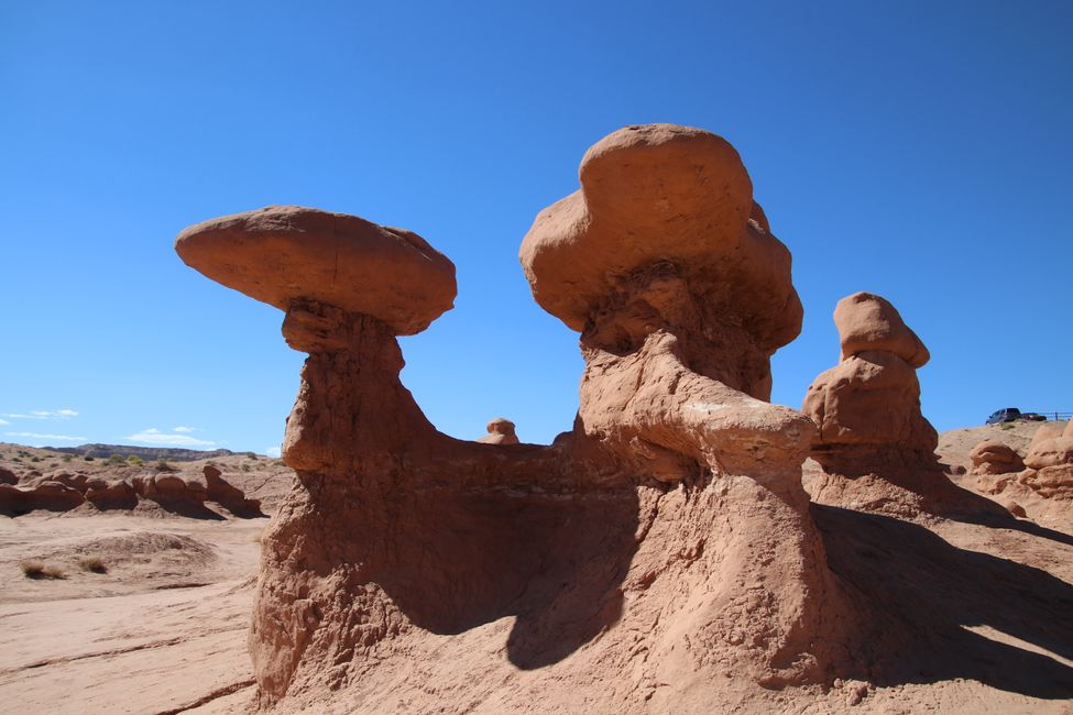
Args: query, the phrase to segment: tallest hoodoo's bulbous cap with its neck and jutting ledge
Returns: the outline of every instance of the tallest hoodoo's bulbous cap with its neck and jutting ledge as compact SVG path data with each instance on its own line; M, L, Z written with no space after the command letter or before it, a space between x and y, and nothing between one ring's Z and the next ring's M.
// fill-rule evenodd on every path
M737 152L700 129L627 127L579 174L521 260L537 302L581 332L584 432L661 481L700 469L799 490L813 428L766 400L801 302Z

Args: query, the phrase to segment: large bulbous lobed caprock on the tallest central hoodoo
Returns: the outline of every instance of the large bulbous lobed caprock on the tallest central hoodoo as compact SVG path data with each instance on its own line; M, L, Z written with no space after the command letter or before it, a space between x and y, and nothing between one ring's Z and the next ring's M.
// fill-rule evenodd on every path
M737 152L701 129L621 129L581 161L581 189L543 210L519 258L540 306L584 331L639 273L669 267L770 355L801 328L790 254ZM664 316L672 319L672 316Z

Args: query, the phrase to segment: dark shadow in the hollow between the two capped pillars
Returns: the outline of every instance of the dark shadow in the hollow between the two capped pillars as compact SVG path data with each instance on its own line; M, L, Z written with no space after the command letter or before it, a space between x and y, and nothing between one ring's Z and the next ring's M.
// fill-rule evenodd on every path
M634 490L570 498L430 490L406 502L386 521L390 547L371 580L418 627L455 635L513 615L507 658L532 670L618 619L637 550Z

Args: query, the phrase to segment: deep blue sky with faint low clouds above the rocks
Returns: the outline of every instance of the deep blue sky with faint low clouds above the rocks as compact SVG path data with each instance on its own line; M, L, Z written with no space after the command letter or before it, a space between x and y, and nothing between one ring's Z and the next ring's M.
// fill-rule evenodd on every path
M270 204L417 231L455 310L404 383L464 438L570 428L578 337L517 249L585 148L675 122L741 152L793 253L774 402L890 299L924 415L1073 410L1073 3L0 2L0 441L277 446L304 355L187 268L184 227Z

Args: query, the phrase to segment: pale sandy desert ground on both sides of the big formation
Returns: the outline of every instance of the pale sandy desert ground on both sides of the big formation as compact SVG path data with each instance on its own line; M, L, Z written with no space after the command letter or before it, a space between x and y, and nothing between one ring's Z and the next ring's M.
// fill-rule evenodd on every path
M940 437L940 455L951 479L972 488L975 477L961 468L973 446L997 438L1023 450L1037 428L1017 422L952 430ZM162 715L253 707L247 634L260 539L292 473L263 457L213 463L248 496L262 499L265 517L217 509L216 518L189 518L155 505L0 517L0 712ZM173 466L182 474L204 464ZM17 475L132 469L107 460L64 461L17 444L0 444L0 466ZM832 570L905 626L907 648L919 638L930 654L887 653L904 659L900 670L887 671L897 678L836 680L822 692L787 689L773 693L771 706L1073 712L1073 508L1048 499L1022 506L1028 518L995 525L814 505ZM43 564L52 576L24 575L28 562ZM494 712L494 702L472 710Z

